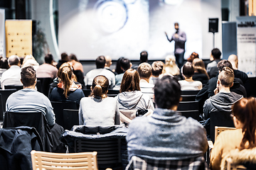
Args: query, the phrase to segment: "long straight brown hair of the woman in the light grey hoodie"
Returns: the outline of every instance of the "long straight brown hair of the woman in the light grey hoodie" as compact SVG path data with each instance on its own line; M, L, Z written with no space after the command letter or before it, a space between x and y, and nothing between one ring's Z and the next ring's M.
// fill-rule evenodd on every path
M139 73L136 69L127 69L122 78L120 93L124 91L140 91Z

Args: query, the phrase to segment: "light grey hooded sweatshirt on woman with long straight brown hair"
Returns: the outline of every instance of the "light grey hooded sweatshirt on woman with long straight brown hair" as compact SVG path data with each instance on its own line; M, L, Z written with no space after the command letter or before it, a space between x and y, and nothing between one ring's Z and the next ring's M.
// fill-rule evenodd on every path
M125 115L129 120L135 118L136 111L151 109L154 111L154 105L151 98L142 91L124 91L116 97L117 106L120 114ZM122 115L120 115L122 121ZM126 121L127 122L127 121Z

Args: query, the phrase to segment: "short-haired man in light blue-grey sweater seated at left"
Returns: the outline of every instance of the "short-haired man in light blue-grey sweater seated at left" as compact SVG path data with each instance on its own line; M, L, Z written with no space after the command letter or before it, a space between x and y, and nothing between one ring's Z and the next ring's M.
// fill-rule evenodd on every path
M28 66L21 69L21 79L23 89L11 94L6 101L6 111L10 112L41 112L46 116L50 132L53 137L53 151L60 149L60 135L64 129L55 123L55 114L49 99L36 91L36 71L33 67Z

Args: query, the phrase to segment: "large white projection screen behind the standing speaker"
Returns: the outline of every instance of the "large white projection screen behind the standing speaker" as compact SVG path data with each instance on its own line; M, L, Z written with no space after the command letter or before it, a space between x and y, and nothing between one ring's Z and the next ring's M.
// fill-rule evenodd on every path
M219 18L220 0L61 0L59 1L59 51L74 53L79 60L99 55L139 59L142 50L149 60L174 54L171 37L178 22L187 35L186 54L198 52L209 58L213 35L208 18ZM215 45L221 49L221 24Z

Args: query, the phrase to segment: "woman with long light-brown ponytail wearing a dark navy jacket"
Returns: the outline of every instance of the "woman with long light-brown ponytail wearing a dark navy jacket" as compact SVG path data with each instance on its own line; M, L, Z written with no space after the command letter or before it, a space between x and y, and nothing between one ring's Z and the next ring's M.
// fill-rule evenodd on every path
M60 82L51 91L49 99L50 101L75 101L79 106L81 98L85 95L80 86L74 83L74 74L70 64L64 63L63 65L58 70Z

